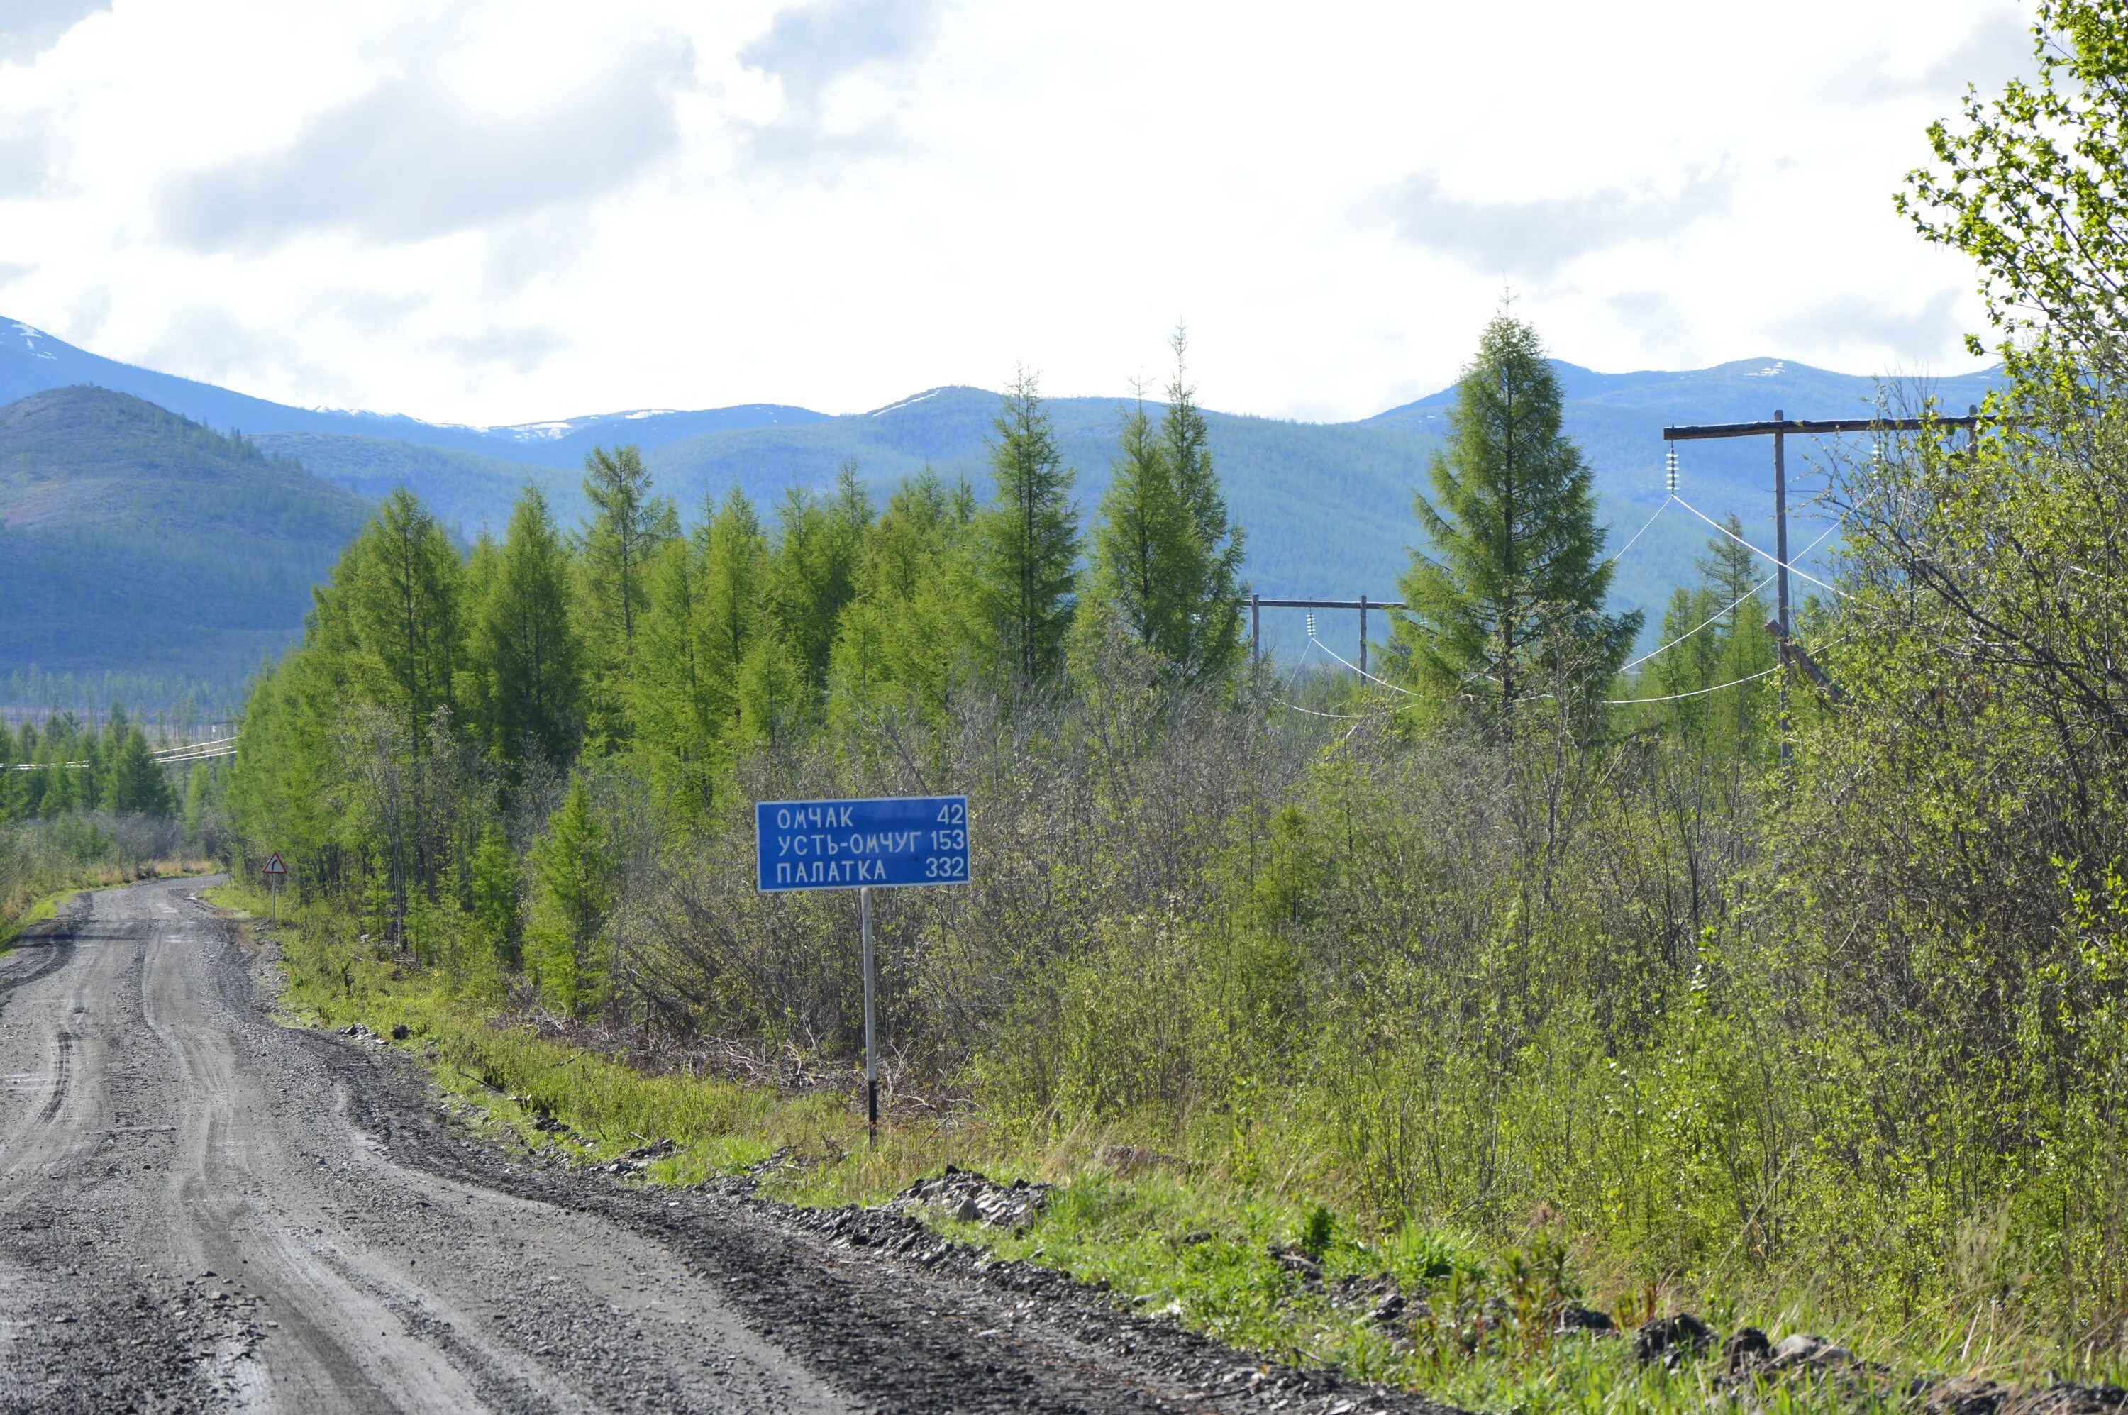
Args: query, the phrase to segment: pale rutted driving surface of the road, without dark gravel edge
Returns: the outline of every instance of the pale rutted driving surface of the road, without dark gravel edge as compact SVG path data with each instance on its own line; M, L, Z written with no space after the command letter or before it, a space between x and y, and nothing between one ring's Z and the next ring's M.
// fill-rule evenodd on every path
M0 1411L847 1409L653 1243L392 1164L185 894L9 977Z

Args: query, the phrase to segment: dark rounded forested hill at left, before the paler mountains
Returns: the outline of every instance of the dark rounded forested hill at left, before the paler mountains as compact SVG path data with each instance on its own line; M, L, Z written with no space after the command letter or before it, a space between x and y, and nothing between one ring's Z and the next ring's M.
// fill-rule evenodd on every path
M0 409L0 675L228 681L300 630L370 502L94 387Z

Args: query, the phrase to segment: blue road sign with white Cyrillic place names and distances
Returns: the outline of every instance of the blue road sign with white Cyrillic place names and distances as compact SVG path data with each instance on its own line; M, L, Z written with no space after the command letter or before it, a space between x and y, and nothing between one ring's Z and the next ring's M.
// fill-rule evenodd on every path
M966 796L764 800L753 806L753 840L768 894L970 879Z

